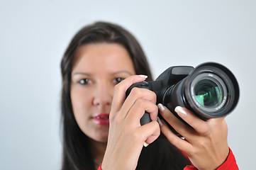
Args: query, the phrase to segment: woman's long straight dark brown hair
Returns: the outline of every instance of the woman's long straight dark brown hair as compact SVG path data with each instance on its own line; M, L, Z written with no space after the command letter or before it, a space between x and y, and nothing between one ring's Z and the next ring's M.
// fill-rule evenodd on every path
M61 62L61 125L63 137L62 170L94 170L94 160L91 156L89 137L84 135L82 130L80 130L79 126L77 125L76 120L74 119L70 98L70 83L72 66L74 63L74 54L77 49L82 45L99 42L117 43L125 47L130 55L131 60L133 61L136 74L148 75L147 80L152 80L152 74L150 72L150 67L145 54L138 41L127 30L116 24L105 22L93 23L79 30L79 32L74 35L74 38L72 38L71 42L69 43ZM169 142L164 143L167 145L167 147L172 148L166 149L162 147L162 143L160 144L159 142L154 142L147 149L143 149L142 153L140 154L137 169L159 169L160 167L167 166L167 163L163 162L163 160L167 159L164 158L165 156L168 157L168 164L169 162L172 163L172 157L175 156L174 154L178 154L178 158L182 157L182 154L180 154L176 148L170 145ZM175 152L169 154L169 152L165 153L166 150ZM181 156L179 156L179 154ZM176 162L173 163L176 164ZM162 166L162 164L165 164L165 166ZM182 164L182 166L184 165Z

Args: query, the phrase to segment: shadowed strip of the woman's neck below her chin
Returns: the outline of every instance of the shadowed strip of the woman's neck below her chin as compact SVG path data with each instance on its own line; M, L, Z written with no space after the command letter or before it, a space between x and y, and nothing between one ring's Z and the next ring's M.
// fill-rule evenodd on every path
M91 145L91 154L94 159L94 162L101 164L105 151L106 151L106 142L97 142L90 139Z

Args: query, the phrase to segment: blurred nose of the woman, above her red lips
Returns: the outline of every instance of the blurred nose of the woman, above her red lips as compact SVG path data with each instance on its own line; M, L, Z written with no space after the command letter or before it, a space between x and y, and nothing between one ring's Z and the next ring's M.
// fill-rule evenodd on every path
M93 105L100 107L109 107L111 106L113 98L113 87L107 83L101 82L96 84L94 90Z

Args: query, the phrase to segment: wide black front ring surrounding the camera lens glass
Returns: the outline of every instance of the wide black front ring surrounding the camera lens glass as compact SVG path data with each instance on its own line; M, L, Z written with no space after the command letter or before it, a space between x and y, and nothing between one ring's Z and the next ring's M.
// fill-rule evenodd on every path
M226 84L226 101L223 106L217 111L204 111L200 108L200 106L196 105L194 99L192 98L192 91L191 91L191 83L195 77L199 74L215 74L221 80L223 80L224 84ZM207 62L204 64L199 65L194 69L191 74L187 77L186 82L184 83L184 97L188 105L191 108L191 111L199 115L200 118L207 120L209 118L221 118L223 116L228 115L238 103L239 98L239 86L238 81L235 79L232 72L229 69L224 67L221 64L214 63L214 62Z

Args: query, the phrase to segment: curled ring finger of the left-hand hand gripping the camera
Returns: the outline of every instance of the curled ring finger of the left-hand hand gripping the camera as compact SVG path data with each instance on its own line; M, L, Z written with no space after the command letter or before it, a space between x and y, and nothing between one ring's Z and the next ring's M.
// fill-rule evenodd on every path
M121 110L122 109L123 108L121 108ZM157 120L158 108L155 103L138 98L130 108L130 111L128 111L128 114L126 115L126 122L130 125L140 125L140 118L143 117L145 112L150 114L151 120Z

